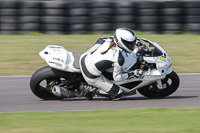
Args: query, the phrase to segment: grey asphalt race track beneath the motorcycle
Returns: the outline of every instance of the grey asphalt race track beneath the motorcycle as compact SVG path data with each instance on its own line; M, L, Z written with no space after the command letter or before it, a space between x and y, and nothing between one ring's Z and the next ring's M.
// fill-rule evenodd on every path
M200 108L200 74L179 74L179 89L164 99L148 99L140 94L110 101L107 98L71 98L45 101L33 95L29 76L0 77L0 112L60 112L136 108Z

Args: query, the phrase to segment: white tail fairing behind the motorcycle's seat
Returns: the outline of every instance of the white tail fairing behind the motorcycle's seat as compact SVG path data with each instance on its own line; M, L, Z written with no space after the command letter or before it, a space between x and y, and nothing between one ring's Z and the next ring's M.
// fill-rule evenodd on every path
M49 45L39 55L52 68L69 72L80 72L80 69L76 69L73 66L74 57L72 52L67 51L62 46Z

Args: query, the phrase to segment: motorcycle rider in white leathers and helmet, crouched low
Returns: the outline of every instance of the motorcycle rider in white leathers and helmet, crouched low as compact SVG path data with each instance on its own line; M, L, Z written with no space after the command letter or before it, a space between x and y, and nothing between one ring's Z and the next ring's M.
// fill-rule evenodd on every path
M122 73L124 57L122 51L133 52L136 45L136 34L129 28L116 29L114 36L100 38L88 51L81 55L81 73L89 85L85 88L99 88L109 94L111 99L118 100L122 86L118 86L102 75L102 72L113 67L114 81L123 81L137 75L136 71ZM138 75L137 75L138 76Z

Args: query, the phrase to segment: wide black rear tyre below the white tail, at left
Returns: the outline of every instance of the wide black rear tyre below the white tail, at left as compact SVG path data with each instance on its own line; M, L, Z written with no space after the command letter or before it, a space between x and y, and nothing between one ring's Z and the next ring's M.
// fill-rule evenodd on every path
M60 82L60 78L55 75L52 68L49 66L40 68L31 77L31 91L39 98L44 100L61 100L62 97L57 97L51 93L51 83Z

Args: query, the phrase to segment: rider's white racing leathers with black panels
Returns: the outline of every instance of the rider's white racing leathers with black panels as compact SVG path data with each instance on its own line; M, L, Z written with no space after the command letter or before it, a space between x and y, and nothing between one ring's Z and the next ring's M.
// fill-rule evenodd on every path
M114 84L102 75L102 72L113 67L114 81L122 81L128 78L128 74L122 74L124 57L121 49L112 47L106 54L101 54L108 49L112 38L99 39L97 43L81 55L80 66L84 79L91 86L99 88L104 93L117 97L122 94L121 86Z

